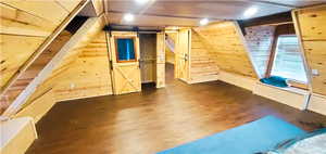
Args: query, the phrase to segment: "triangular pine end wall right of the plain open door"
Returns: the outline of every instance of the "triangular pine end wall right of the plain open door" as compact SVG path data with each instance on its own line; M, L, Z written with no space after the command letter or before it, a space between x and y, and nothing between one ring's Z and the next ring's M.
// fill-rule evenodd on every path
M202 43L200 36L191 30L190 82L217 80L218 67L213 56Z

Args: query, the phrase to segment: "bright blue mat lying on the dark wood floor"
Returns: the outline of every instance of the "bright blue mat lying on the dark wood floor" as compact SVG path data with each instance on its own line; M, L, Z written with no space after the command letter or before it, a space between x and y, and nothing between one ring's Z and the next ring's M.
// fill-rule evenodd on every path
M306 133L274 116L236 127L158 154L254 154Z

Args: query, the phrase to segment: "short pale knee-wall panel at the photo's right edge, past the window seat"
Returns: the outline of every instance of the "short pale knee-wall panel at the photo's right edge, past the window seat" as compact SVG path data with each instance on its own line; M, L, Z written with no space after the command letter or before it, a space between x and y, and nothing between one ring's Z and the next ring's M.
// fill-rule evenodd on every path
M326 115L326 95L313 93L310 98L308 110Z

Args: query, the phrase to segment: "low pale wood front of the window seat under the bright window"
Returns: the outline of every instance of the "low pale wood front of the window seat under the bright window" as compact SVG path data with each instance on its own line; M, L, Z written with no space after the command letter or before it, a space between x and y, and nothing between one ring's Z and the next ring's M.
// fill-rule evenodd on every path
M256 82L253 93L276 102L287 104L298 110L305 110L309 91L296 88L278 88L262 82Z

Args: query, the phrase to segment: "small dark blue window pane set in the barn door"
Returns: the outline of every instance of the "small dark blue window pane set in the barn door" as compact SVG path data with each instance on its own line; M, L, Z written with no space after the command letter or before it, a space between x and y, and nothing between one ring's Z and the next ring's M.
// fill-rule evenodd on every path
M134 38L116 38L117 62L136 61Z

